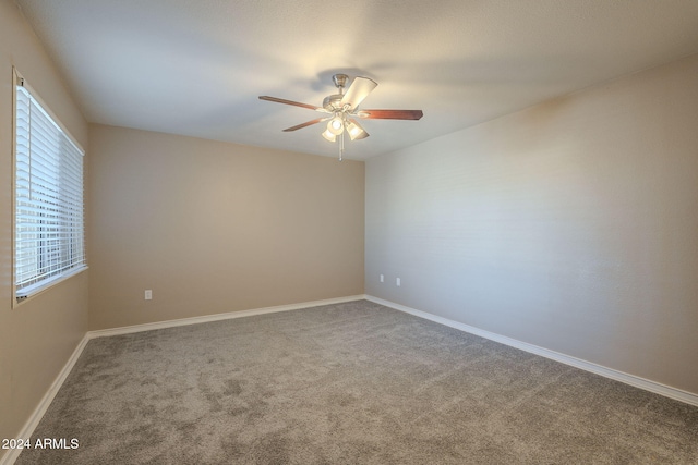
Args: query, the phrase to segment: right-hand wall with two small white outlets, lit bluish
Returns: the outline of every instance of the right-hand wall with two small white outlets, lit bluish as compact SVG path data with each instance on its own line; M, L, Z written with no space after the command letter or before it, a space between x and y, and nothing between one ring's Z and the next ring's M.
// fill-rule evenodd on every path
M698 394L698 56L369 160L365 234L368 294Z

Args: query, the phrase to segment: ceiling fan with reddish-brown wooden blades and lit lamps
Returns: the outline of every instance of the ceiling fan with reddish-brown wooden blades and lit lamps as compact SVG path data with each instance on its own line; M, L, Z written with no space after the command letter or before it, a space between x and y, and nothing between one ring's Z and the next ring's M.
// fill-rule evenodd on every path
M361 105L363 99L377 86L376 82L368 77L357 76L345 93L345 86L349 81L349 76L346 74L335 74L332 76L332 79L338 93L325 97L322 107L265 95L260 96L260 99L308 108L309 110L325 113L325 117L287 127L284 131L297 131L327 121L327 129L322 135L325 139L333 143L339 139L339 161L341 161L345 151L345 133L349 134L351 140L369 137L369 133L361 127L356 120L357 118L364 120L419 120L423 115L422 110L360 110L359 105Z

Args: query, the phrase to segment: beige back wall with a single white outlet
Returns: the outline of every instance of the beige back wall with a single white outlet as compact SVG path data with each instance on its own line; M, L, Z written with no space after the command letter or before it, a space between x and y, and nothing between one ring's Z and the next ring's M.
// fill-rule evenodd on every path
M363 162L104 125L89 152L91 329L363 293Z

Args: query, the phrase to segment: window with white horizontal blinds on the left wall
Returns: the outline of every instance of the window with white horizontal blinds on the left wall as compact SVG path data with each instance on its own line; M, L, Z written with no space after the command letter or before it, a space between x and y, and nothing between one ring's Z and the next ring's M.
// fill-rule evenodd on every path
M83 156L15 74L14 291L16 302L85 268Z

